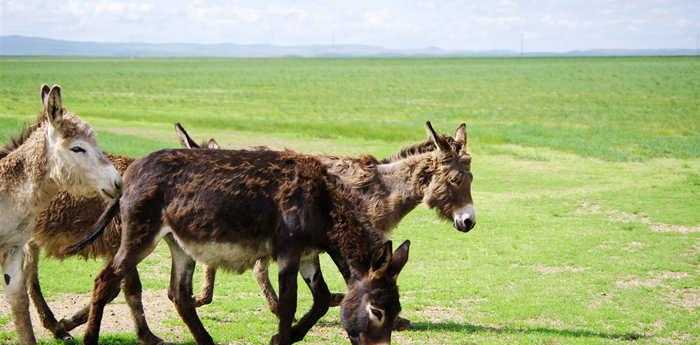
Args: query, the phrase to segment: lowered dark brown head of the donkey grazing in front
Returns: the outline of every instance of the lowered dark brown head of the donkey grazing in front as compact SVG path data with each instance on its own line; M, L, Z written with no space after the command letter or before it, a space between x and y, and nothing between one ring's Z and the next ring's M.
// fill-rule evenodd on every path
M396 279L408 260L409 241L391 252L391 241L372 253L369 271L349 288L341 321L353 345L389 344L401 311Z

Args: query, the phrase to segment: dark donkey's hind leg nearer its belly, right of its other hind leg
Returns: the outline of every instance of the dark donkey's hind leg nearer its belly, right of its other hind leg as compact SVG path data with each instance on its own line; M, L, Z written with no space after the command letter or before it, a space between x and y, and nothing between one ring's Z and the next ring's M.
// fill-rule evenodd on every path
M165 237L172 255L172 271L170 273L170 291L168 296L175 303L180 318L185 322L198 345L214 344L209 332L204 328L197 315L192 298L192 274L195 262L185 253L171 236Z

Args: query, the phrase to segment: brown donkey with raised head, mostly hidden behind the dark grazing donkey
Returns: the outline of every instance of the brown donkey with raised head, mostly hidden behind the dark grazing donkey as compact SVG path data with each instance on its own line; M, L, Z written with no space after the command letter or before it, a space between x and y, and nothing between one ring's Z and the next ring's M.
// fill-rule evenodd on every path
M459 231L468 232L476 225L466 125L457 127L454 138L438 135L430 122L426 123L426 130L427 141L406 147L382 161L370 156L319 157L328 173L359 193L364 200L361 212L374 228L387 234L420 202L436 209L441 218L451 220ZM262 258L255 263L253 272L270 310L277 315L278 298L269 279L268 266L269 260ZM215 275L216 266L207 267L197 306L212 301ZM331 305L337 306L342 298L342 294L333 294ZM408 320L398 318L395 330L409 326Z

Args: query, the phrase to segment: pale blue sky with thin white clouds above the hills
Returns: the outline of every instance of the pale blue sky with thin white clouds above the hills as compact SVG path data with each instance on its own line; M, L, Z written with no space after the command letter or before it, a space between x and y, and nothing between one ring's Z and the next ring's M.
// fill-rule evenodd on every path
M700 0L0 0L0 35L526 52L691 48Z

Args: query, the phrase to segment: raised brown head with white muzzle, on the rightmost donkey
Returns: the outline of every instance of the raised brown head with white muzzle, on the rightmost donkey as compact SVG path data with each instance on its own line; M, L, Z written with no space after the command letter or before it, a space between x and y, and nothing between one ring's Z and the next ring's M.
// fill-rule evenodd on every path
M459 231L467 232L476 225L476 211L472 201L471 155L467 152L466 125L457 127L454 142L449 143L435 133L426 122L428 136L437 149L432 152L433 174L423 196L423 202L449 219Z

